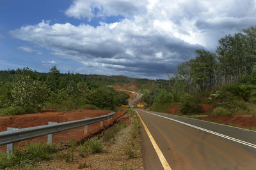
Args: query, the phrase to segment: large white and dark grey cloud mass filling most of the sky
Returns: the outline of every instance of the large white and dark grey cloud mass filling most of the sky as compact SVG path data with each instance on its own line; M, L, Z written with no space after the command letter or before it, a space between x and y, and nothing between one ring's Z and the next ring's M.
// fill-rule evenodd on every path
M76 0L69 17L122 16L99 26L42 21L11 31L13 37L75 60L77 71L165 78L198 48L212 49L225 34L255 25L255 1L85 1Z

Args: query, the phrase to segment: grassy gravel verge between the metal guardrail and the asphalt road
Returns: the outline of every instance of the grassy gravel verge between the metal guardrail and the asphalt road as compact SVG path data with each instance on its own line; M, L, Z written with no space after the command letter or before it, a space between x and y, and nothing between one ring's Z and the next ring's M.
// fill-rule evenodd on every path
M99 162L100 159L107 159L108 162L126 162L124 164L115 164L114 169L138 166L136 165L138 160L140 160L140 166L142 167L138 118L132 110L127 112L125 118L125 122L119 122L102 132L102 134L89 138L83 143L78 143L75 139L70 141L68 147L29 143L24 147L16 147L10 157L6 153L0 152L0 169L49 169L53 165L54 167L72 167L72 169L91 166L97 169L99 165L92 164L90 161ZM94 157L97 158L95 159ZM118 157L118 159L111 159L111 157ZM133 165L130 164L132 161L129 161L129 159L138 160L134 160L136 164Z

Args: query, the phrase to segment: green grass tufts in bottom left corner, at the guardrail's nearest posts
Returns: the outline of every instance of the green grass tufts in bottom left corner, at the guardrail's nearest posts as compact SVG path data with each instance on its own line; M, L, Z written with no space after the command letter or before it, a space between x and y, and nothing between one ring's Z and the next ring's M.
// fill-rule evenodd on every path
M10 157L0 152L0 169L22 168L39 160L49 160L55 152L57 148L54 144L29 143L23 149L15 150Z

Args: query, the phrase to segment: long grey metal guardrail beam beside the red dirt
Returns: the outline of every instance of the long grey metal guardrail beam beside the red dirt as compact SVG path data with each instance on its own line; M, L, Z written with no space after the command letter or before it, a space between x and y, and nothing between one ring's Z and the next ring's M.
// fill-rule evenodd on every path
M53 134L84 125L90 125L96 122L101 122L109 118L113 118L115 112L111 112L108 115L95 118L86 118L82 120L75 120L63 123L54 123L49 125L41 125L36 127L28 127L23 129L13 129L12 131L0 132L0 145L6 145L9 143L15 143L23 141L25 139L35 138L46 134Z

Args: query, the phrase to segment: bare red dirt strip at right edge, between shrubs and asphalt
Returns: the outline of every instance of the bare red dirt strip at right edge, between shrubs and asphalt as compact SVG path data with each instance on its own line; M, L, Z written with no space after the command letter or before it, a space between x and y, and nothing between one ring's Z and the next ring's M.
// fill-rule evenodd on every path
M202 118L202 120L211 120L216 123L234 125L237 127L244 127L248 129L256 129L256 116L254 115L237 115L234 117L229 116L218 116L211 117L208 115L207 117Z

